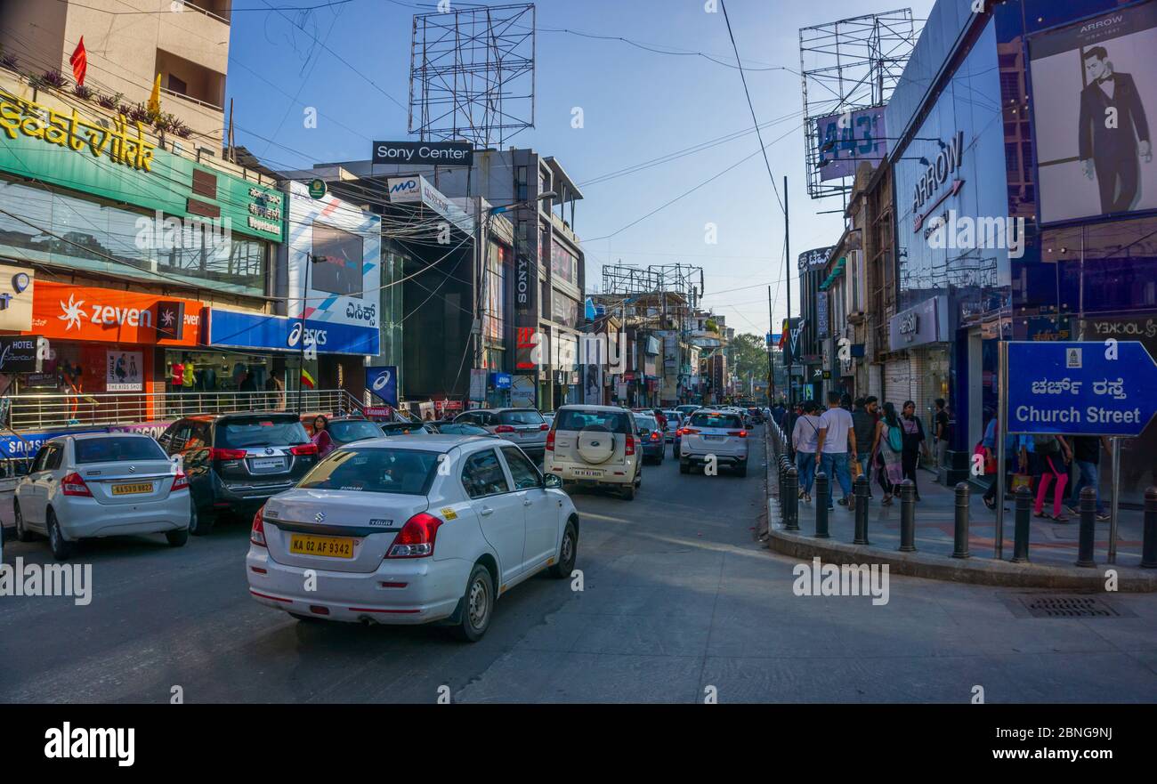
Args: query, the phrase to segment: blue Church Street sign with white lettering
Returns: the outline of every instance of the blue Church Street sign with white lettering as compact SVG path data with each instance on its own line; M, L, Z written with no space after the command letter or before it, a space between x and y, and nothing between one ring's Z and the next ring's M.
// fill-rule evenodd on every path
M1010 341L1009 432L1138 436L1157 412L1157 363L1137 341Z

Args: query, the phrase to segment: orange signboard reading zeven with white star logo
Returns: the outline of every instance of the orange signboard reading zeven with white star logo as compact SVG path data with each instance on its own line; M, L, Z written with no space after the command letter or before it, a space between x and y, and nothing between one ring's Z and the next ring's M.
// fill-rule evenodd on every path
M160 308L165 303L165 308ZM180 336L168 338L159 328L171 305L183 308ZM31 330L52 340L98 340L110 343L163 342L196 346L200 335L202 304L155 294L117 291L40 280L32 298ZM163 325L162 325L163 326Z

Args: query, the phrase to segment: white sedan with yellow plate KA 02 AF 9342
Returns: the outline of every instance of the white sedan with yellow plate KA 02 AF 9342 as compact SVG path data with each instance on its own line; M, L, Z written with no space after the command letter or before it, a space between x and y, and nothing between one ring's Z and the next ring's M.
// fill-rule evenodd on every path
M570 576L578 515L560 487L493 437L348 444L258 511L249 591L301 620L440 621L474 642L511 587Z

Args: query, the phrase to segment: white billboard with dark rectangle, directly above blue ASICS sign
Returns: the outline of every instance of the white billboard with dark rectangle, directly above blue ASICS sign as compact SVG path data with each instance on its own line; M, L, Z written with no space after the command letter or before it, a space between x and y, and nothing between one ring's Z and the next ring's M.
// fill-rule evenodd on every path
M289 185L289 318L378 328L382 323L382 219L337 197ZM307 272L308 266L308 272ZM373 352L377 354L377 352Z

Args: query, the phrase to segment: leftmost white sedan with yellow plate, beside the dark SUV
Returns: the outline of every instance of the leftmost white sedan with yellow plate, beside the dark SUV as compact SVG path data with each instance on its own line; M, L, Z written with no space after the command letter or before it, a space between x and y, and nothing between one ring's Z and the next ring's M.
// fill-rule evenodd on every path
M50 438L13 501L16 538L49 538L62 561L81 539L163 533L189 540L189 480L150 436L94 432Z

